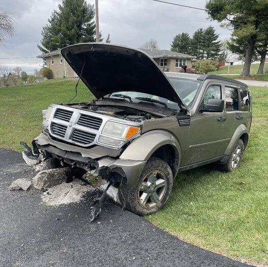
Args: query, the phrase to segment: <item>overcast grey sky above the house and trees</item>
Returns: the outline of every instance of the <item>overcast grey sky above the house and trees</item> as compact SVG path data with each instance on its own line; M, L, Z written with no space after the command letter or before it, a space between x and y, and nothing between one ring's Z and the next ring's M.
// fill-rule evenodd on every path
M94 0L88 0L94 4ZM169 0L177 4L204 8L206 0ZM0 46L0 65L13 69L20 66L33 73L40 68L42 60L35 58L41 52L42 27L51 12L58 9L60 0L0 0L0 8L15 18L15 34ZM100 31L104 40L110 34L111 43L139 47L154 38L160 49L170 49L173 37L181 32L192 35L199 28L215 27L220 39L228 38L229 31L218 22L207 19L202 10L183 8L154 2L152 0L99 0ZM30 59L2 59L25 58Z

